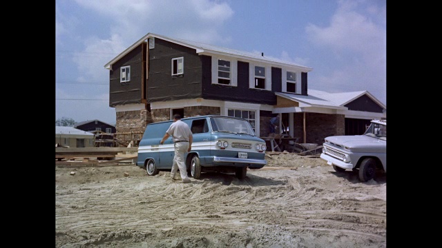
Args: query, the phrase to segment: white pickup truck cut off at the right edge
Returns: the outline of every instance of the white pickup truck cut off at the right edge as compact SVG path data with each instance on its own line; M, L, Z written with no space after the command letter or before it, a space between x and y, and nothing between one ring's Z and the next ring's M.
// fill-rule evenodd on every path
M320 158L336 172L352 169L366 182L376 169L387 172L387 121L373 120L363 135L328 136Z

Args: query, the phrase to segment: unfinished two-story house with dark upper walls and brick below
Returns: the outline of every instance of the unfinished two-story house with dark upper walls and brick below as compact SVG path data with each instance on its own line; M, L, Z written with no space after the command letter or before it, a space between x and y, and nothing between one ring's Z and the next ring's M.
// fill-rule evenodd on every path
M279 114L290 136L323 143L325 136L345 134L346 117L363 128L386 115L366 91L309 94L306 66L158 34L146 34L104 67L117 132L142 132L175 113L221 114L245 118L257 135L268 136L269 119Z

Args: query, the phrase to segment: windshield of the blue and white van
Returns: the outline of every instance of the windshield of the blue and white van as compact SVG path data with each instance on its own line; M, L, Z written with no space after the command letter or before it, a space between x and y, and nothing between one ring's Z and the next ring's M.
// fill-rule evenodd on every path
M249 134L254 136L250 123L246 120L216 117L210 120L213 132L229 132L233 134Z

